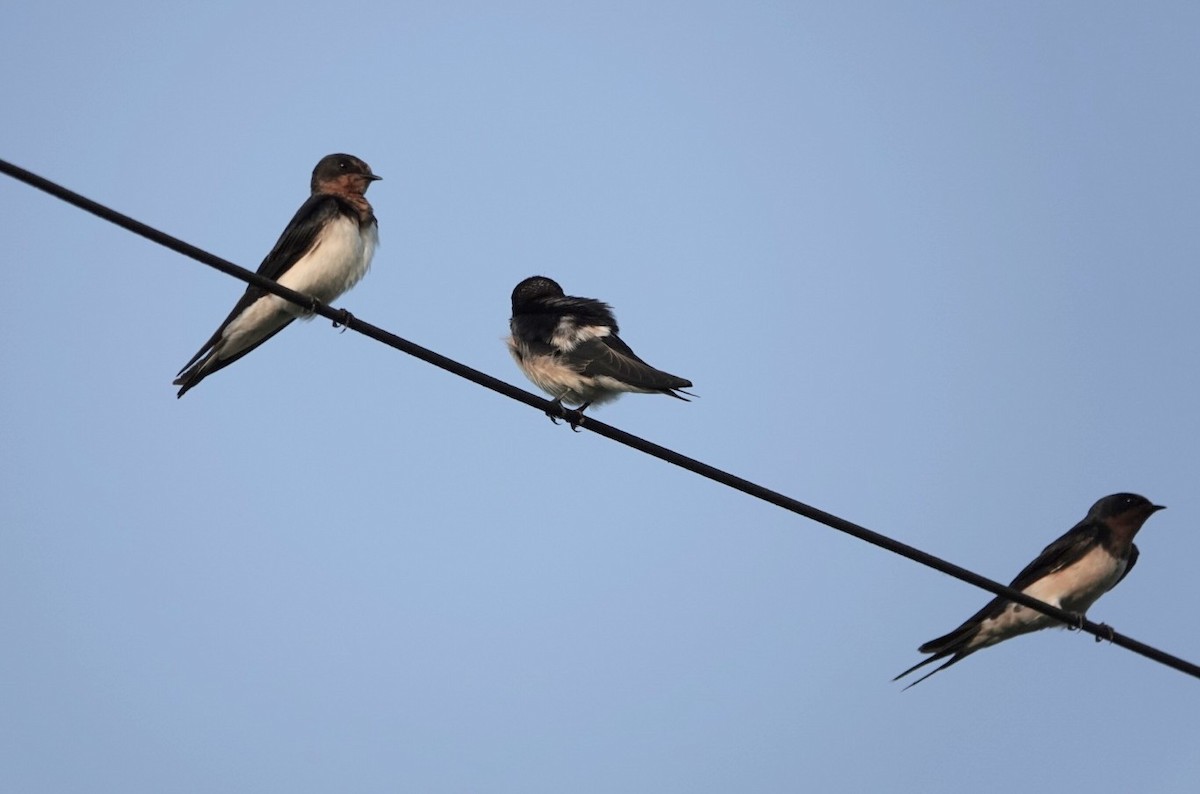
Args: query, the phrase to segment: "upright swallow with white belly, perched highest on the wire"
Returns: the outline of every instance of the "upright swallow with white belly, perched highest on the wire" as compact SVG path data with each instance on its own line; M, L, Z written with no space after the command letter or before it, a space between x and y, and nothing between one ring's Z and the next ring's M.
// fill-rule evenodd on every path
M322 303L359 283L379 242L379 224L365 196L377 179L358 157L322 157L312 170L312 194L263 259L258 275ZM266 342L296 317L308 319L312 314L258 287L246 288L221 327L179 371L178 396Z

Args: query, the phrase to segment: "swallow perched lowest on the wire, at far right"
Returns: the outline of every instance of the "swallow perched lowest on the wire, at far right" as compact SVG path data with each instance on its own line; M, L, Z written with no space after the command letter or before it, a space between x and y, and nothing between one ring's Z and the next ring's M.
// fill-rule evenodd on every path
M1046 546L1008 587L1082 616L1097 598L1129 576L1138 563L1133 537L1151 515L1163 509L1163 505L1153 505L1145 497L1133 493L1115 493L1100 499L1081 522ZM907 690L977 650L1056 625L1061 624L1049 615L997 596L950 633L918 648L918 652L932 656L892 680L950 657L906 686Z

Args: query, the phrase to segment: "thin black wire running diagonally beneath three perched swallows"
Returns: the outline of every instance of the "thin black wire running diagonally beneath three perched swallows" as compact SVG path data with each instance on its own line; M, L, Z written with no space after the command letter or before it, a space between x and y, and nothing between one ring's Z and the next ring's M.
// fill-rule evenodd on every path
M104 206L103 204L92 201L91 199L79 196L78 193L74 193L60 185L56 185L55 182L52 182L48 179L38 176L37 174L28 172L18 166L13 166L7 161L0 160L0 172L7 174L8 176L12 176L16 180L25 182L26 185L36 187L40 191L44 191L50 196L66 201L67 204L72 204L82 210L91 212L92 215L103 218L104 221L108 221L110 223L114 223L121 227L122 229L127 229L128 231L139 234L143 237L146 237L152 242L157 242L161 246L170 248L172 251L181 253L185 257L196 259L197 261L209 265L210 267L215 267L216 270L220 270L223 273L233 276L234 278L241 279L248 284L253 284L254 287L258 287L269 293L278 295L280 297L298 306L301 306L314 314L319 314L329 320L332 320L334 323L337 323L338 325L343 325L377 342L382 342L388 347L395 348L402 353L407 353L408 355L415 356L421 361L425 361L426 363L433 365L434 367L439 367L461 378L466 378L467 380L470 380L472 383L484 386L485 389L491 389L492 391L499 392L505 397L510 397L517 402L536 408L552 416L558 416L565 420L574 420L576 422L580 422L581 419L583 419L581 414L563 408L560 404L552 403L548 399L544 399L536 395L524 391L523 389L517 389L516 386L512 386L498 378L493 378L492 375L480 372L479 369L474 369L452 359L448 359L444 355L434 353L433 350L422 348L419 344L414 344L413 342L398 337L395 333L391 333L390 331L385 331L384 329L380 329L377 325L372 325L370 323L358 319L346 309L331 308L308 295L288 289L287 287L282 287L278 283L271 281L270 278L264 278L263 276L259 276L256 272L246 270L245 267L240 267L239 265L235 265L232 261L228 261L220 257L216 257L202 248L197 248L196 246L184 242L178 237L173 237L169 234L166 234L163 231L160 231L158 229L149 227L145 223L142 223L140 221L134 221L127 215L122 215L115 210ZM761 499L762 501L767 501L772 505L775 505L776 507L782 507L784 510L797 513L799 516L804 516L805 518L824 524L826 527L829 527L832 529L836 529L838 531L857 537L858 540L866 541L868 543L871 543L874 546L878 546L880 548L887 549L893 554L899 554L900 557L907 558L914 563L919 563L926 567L931 567L935 571L941 571L942 573L946 573L956 579L966 582L967 584L973 584L977 588L1002 596L1009 601L1013 601L1014 603L1028 607L1030 609L1036 609L1045 615L1054 618L1055 620L1063 622L1067 626L1086 631L1087 633L1094 636L1097 638L1097 642L1099 642L1100 639L1108 639L1115 645L1120 645L1122 648L1132 650L1135 654L1141 654L1147 658L1152 658L1156 662L1175 668L1181 673L1186 673L1194 678L1200 678L1200 666L1198 664L1193 664L1187 660L1168 654L1152 645L1147 645L1146 643L1139 642L1132 637L1120 634L1116 631L1114 631L1111 626L1108 626L1105 624L1093 622L1076 613L1067 612L1066 609L1060 609L1058 607L1055 607L1044 601L1039 601L1038 598L1028 596L1021 593L1020 590L1014 590L1013 588L1001 584L1000 582L995 582L992 579L989 579L988 577L980 576L974 571L968 571L965 567L954 565L953 563L943 560L940 557L935 557L932 554L929 554L928 552L923 552L919 548L908 546L907 543L901 543L900 541L888 537L887 535L881 535L880 533L866 529L865 527L860 527L859 524L846 521L845 518L839 518L833 513L827 513L823 510L817 510L816 507L806 505L797 499L792 499L791 497L786 497L776 491L764 488L763 486L738 477L733 474L730 474L728 471L724 471L715 467L708 465L707 463L696 461L695 458L680 455L674 450L668 450L665 446L660 446L652 441L647 441L643 438L626 433L625 431L612 427L611 425L605 425L604 422L599 422L592 419L590 416L583 419L583 421L580 423L580 427L592 431L593 433L602 435L619 444L624 444L625 446L632 447L640 452L644 452L646 455L656 457L660 461L665 461L682 469L686 469L688 471L698 474L700 476L713 480L714 482L719 482L736 491L740 491L744 494L748 494L756 499Z

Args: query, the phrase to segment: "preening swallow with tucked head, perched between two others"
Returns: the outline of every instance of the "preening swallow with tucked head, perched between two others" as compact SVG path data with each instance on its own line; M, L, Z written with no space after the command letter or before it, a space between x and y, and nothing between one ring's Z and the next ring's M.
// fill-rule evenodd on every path
M688 402L678 392L691 381L638 359L617 336L612 307L564 295L563 288L545 276L526 278L512 290L509 327L512 332L506 342L517 366L558 405L577 404L575 410L582 413L626 391L658 392ZM554 420L553 414L550 417Z

